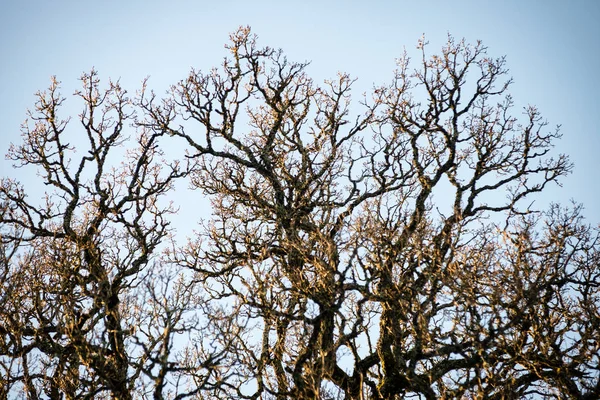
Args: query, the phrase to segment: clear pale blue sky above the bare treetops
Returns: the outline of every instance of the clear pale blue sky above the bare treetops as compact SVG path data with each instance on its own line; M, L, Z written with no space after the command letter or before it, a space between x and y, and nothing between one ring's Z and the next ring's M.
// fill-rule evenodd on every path
M50 76L63 82L65 95L92 67L105 80L120 78L130 92L150 76L150 87L162 93L191 67L218 65L239 25L250 25L260 44L283 48L291 60L312 61L315 79L349 72L360 90L389 82L394 59L404 47L412 51L422 34L437 51L451 33L506 55L517 105L535 104L550 126L562 125L557 149L571 156L575 170L545 199L583 202L597 224L599 21L596 0L3 0L0 153L20 140L25 111ZM75 117L80 105L73 106L65 111ZM10 165L2 160L0 175L19 177Z

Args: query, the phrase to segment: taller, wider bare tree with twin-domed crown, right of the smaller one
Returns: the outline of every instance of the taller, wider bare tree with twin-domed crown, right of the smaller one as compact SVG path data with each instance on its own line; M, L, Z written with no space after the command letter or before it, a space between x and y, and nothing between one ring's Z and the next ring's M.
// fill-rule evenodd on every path
M223 396L599 395L598 232L526 202L571 168L558 131L514 116L480 43L419 47L352 116L350 77L315 84L241 29L146 105L212 199L175 261L212 297Z

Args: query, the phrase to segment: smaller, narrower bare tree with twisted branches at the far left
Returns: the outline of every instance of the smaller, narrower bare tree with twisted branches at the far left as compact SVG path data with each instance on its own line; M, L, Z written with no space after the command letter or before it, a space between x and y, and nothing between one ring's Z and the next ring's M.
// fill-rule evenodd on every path
M174 212L165 196L185 170L165 160L164 132L135 124L137 100L118 83L102 89L95 71L82 83L83 135L60 119L53 81L8 154L38 168L42 202L0 185L3 396L191 395L210 360L186 364L174 337L197 333L197 294L158 254Z

